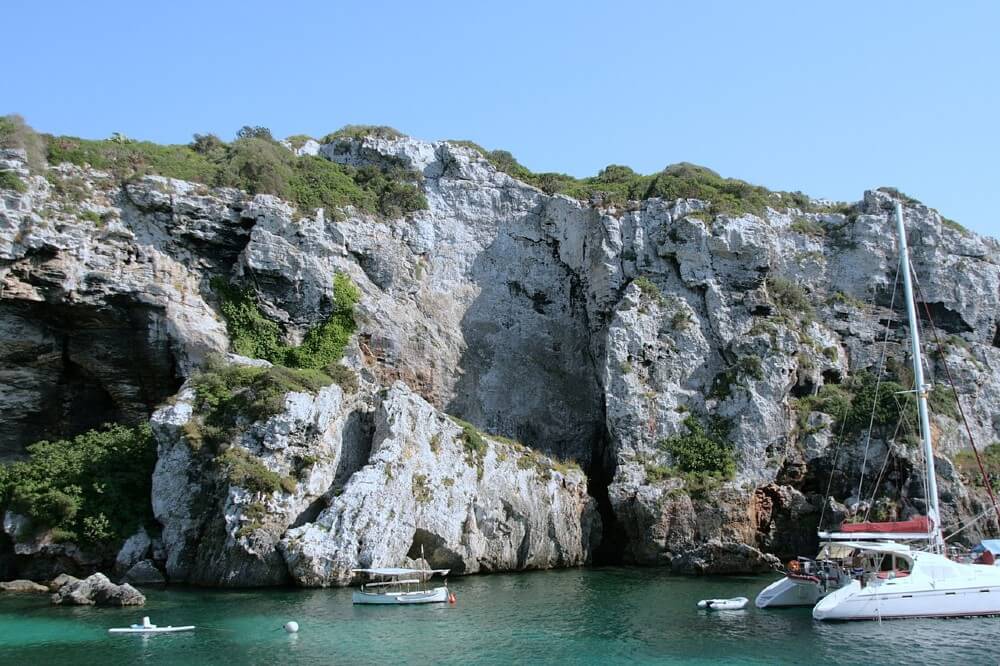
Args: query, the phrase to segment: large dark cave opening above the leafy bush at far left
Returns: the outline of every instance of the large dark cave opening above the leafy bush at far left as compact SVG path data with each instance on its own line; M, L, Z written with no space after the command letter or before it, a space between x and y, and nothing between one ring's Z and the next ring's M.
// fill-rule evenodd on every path
M0 303L0 458L145 421L182 378L162 311L134 301Z

